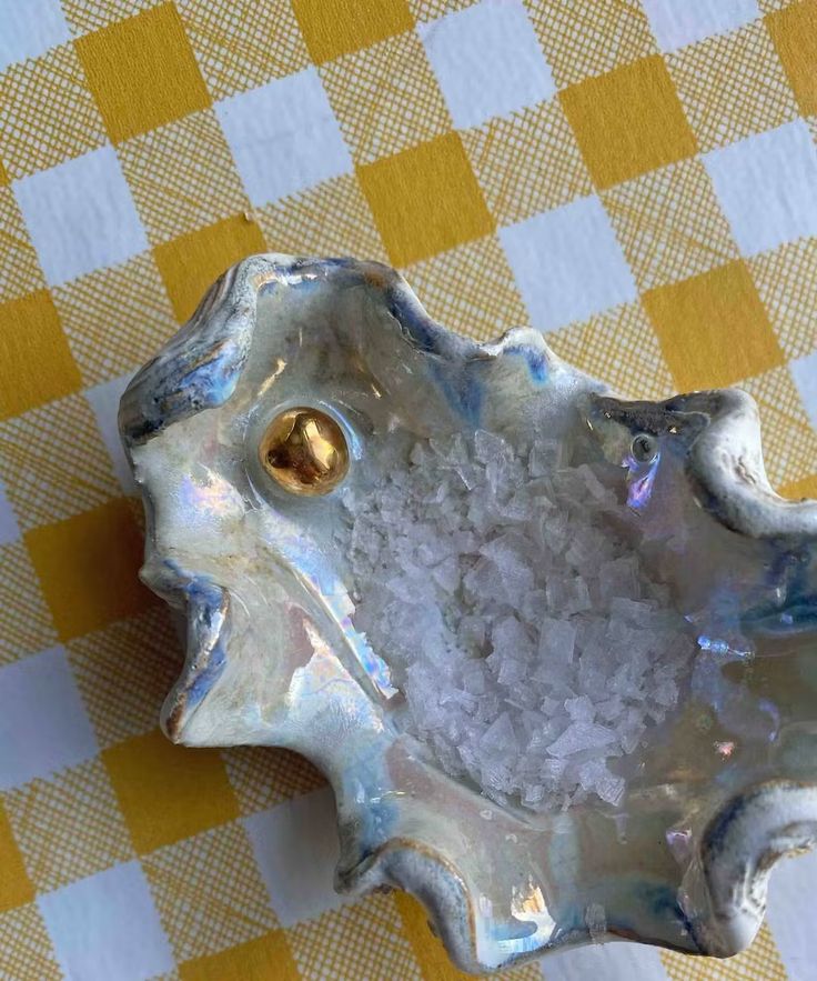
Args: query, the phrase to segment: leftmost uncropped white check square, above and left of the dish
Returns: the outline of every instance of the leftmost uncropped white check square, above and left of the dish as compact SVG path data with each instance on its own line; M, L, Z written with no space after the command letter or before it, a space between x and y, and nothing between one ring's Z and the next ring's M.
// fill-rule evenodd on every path
M49 286L148 249L112 147L33 173L12 188Z

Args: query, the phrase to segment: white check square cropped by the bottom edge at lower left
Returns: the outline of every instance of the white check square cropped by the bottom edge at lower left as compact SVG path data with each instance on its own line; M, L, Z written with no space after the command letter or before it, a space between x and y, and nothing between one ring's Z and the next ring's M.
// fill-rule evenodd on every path
M38 905L65 978L147 981L174 967L139 862L71 882Z

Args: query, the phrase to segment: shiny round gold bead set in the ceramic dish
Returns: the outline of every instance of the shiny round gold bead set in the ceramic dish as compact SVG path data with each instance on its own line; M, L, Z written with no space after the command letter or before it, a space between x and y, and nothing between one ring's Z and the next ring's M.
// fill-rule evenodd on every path
M343 430L319 409L286 409L276 416L261 440L259 456L264 470L293 494L326 494L349 471Z

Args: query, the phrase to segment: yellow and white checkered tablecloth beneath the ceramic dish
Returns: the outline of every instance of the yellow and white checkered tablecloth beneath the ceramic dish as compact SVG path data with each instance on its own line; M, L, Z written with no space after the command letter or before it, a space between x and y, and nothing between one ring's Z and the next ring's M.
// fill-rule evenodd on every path
M742 386L817 497L816 140L817 0L0 0L0 977L457 977L413 900L334 895L306 763L158 731L115 407L208 284L390 262L628 394ZM728 963L508 977L808 981L816 880Z

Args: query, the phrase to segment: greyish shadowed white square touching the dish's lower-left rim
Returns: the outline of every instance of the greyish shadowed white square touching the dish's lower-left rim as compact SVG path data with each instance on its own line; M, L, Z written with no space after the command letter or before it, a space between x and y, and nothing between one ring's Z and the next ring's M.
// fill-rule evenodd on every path
M244 825L283 927L345 902L333 885L340 851L331 790L315 790L252 814Z

